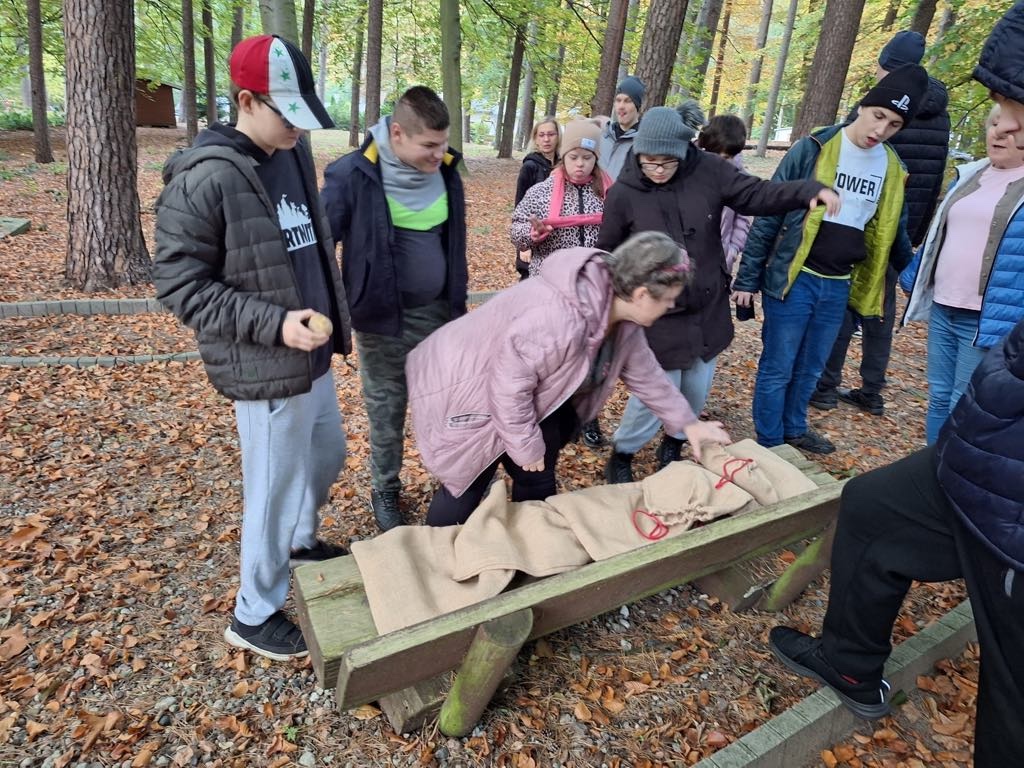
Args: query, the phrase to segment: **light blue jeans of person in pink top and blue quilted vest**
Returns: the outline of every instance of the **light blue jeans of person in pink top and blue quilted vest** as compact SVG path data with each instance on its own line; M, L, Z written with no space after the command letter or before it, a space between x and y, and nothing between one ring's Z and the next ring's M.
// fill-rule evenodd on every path
M928 324L928 418L925 439L929 445L956 407L987 349L976 347L978 319L974 309L932 304Z

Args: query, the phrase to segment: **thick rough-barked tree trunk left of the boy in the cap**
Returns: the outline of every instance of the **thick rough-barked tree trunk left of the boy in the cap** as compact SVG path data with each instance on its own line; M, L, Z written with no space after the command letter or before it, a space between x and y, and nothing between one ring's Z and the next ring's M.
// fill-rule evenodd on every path
M65 0L68 255L65 275L97 291L146 283L135 144L132 0Z

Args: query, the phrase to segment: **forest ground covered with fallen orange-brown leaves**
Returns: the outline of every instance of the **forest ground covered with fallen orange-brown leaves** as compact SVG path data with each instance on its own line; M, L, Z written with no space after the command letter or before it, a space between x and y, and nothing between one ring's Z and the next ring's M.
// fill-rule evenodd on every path
M0 301L89 298L63 282L67 229L58 163L32 163L31 134L0 132L0 215L32 219L0 240ZM139 129L139 194L153 247L160 167L181 132ZM478 147L468 160L471 290L516 279L506 238L518 160ZM317 153L317 165L332 158ZM778 158L751 162L767 176ZM147 297L152 287L94 298ZM187 351L166 313L0 321L0 356ZM706 416L750 437L759 323L737 324ZM859 350L851 346L849 376ZM818 458L849 476L924 442L925 331L896 336L884 417L841 406L812 412L837 445ZM357 377L335 362L348 434L346 470L324 510L340 544L374 535L369 445ZM856 382L853 383L853 386ZM622 390L601 422L609 435ZM638 473L654 469L652 441ZM569 445L564 490L603 482L607 449ZM410 441L407 515L432 490ZM820 626L827 578L784 615L734 614L682 586L527 646L513 684L473 733L434 723L394 733L373 706L338 712L307 660L274 664L229 648L238 572L241 471L231 406L199 362L114 368L0 367L0 765L44 766L622 766L692 765L784 711L815 686L767 649L786 622ZM794 553L752 567L779 572ZM902 641L964 598L961 583L918 585L895 628ZM289 606L292 609L294 606ZM970 764L977 648L940 665L896 715L823 752L826 766Z

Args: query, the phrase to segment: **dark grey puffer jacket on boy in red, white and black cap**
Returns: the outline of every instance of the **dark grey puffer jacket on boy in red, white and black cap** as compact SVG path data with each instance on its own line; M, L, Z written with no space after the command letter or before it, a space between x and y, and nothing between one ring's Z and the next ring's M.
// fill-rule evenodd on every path
M218 128L203 131L164 166L153 265L157 298L196 332L217 391L234 400L303 394L312 387L311 355L281 341L285 314L303 304L278 214L256 175L257 161ZM334 351L347 354L348 306L316 172L304 146L296 156L332 284Z

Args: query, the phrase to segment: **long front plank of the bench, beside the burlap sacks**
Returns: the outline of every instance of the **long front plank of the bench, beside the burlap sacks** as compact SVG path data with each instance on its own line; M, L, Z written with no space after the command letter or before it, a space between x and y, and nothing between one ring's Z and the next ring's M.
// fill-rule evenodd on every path
M829 483L387 635L368 633L365 642L341 657L339 707L373 701L451 670L465 655L476 628L485 622L532 608L530 638L542 637L812 536L835 517L841 487L842 483Z

